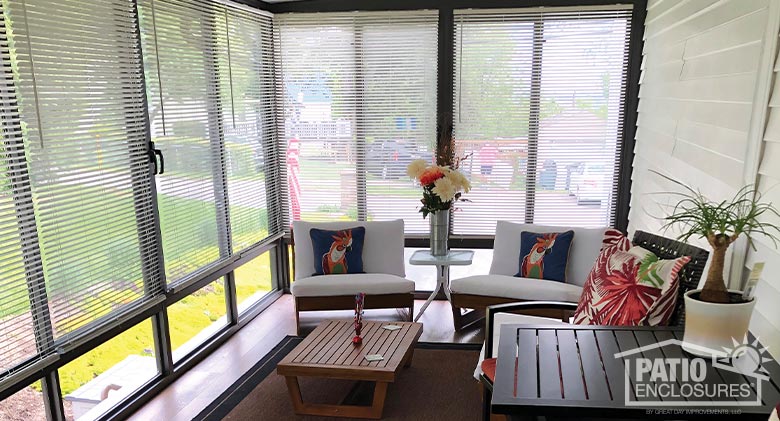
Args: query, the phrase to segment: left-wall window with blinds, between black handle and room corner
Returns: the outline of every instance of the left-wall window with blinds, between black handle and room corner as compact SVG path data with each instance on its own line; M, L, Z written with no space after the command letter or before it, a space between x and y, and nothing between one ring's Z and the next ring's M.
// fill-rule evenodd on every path
M272 20L140 0L165 272L178 283L280 230ZM269 211L270 209L270 211Z

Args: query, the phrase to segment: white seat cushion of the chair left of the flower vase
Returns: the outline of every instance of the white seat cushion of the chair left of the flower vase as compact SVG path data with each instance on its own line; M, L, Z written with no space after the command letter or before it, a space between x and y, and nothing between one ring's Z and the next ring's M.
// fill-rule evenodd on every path
M297 279L290 288L295 297L330 297L355 295L406 294L414 291L414 282L386 273L320 275Z

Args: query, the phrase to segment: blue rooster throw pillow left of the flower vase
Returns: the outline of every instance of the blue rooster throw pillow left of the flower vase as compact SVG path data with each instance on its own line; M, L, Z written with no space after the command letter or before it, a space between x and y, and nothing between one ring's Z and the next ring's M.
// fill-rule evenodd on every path
M363 273L364 227L337 231L312 228L309 231L314 251L314 274Z

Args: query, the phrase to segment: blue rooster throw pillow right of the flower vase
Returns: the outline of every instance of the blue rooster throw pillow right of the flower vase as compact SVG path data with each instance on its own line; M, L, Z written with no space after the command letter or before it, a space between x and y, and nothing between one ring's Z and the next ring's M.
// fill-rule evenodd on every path
M520 272L515 276L566 282L566 266L572 240L574 231L521 232Z

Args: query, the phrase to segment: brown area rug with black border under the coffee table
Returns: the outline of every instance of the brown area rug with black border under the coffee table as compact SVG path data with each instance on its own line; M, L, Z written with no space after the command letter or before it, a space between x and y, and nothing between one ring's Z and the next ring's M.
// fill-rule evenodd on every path
M197 420L337 420L295 415L276 364L301 338L287 337L268 356L209 405ZM385 420L478 420L480 392L474 380L479 344L421 342L412 366L402 369L387 391ZM368 405L372 382L300 378L304 401Z

